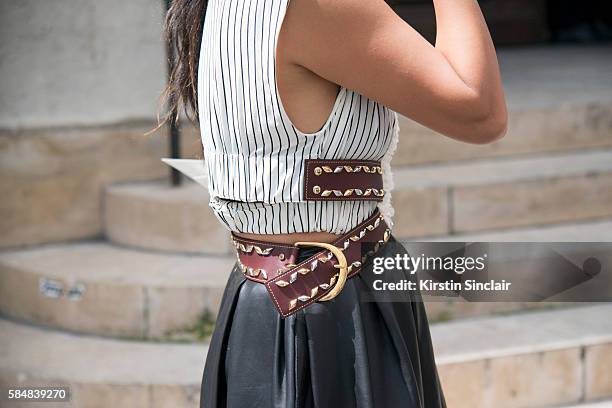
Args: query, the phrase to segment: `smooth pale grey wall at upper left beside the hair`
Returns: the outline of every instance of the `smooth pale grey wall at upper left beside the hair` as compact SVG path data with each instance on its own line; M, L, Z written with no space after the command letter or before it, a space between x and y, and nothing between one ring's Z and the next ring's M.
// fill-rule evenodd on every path
M161 0L0 1L0 128L153 118Z

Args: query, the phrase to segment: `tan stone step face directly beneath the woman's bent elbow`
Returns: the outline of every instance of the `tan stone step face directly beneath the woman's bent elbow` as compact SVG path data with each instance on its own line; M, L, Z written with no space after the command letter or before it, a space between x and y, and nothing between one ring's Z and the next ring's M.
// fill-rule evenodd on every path
M415 166L612 146L612 102L509 109L506 136L486 145L450 139L400 116L400 142L391 164Z

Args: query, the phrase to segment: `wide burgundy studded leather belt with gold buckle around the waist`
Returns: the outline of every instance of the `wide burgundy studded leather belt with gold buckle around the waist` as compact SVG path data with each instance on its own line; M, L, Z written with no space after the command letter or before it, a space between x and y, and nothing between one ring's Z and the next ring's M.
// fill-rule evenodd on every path
M359 273L391 236L391 230L376 209L335 242L296 242L284 245L244 239L232 234L238 264L247 279L266 285L282 317L290 316L316 301L336 297L348 278ZM301 247L321 251L296 264Z

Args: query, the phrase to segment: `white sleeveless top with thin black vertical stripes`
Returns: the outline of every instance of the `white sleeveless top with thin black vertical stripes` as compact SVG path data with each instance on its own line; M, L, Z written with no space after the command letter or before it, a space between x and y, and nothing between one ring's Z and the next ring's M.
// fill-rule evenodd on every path
M376 207L391 225L389 162L397 113L340 87L323 127L303 133L285 112L275 50L289 0L209 0L198 67L198 115L210 207L231 231L344 233ZM305 201L308 158L382 160L382 202Z

